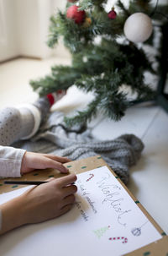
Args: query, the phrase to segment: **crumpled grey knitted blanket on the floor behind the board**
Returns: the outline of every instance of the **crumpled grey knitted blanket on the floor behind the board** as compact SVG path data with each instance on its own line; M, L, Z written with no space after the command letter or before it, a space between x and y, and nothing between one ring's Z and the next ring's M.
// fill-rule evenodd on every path
M68 129L61 112L52 112L29 141L14 144L25 150L66 156L71 160L102 155L124 183L129 181L129 167L139 160L144 149L142 141L133 134L124 134L117 139L100 141L92 137L88 129L80 126Z

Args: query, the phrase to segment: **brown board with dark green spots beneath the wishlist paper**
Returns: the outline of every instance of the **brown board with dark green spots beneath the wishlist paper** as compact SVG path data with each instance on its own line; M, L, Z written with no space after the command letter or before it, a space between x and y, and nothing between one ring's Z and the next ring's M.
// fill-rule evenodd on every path
M102 159L101 155L95 155L92 157L89 157L87 159L81 159L78 161L71 161L66 164L64 164L67 168L69 168L71 173L79 174L81 172L87 172L92 169L96 169L98 167L102 166L108 166L108 164ZM139 203L139 200L134 197L132 193L130 193L129 189L123 184L123 182L120 180L120 178L113 172L113 170L108 166L108 169L112 172L113 176L118 179L118 182L123 186L123 188L129 193L129 196L134 200L134 202L138 205L139 209L144 213L144 215L148 218L148 220L155 226L156 230L159 231L161 235L161 239L152 242L148 244L147 246L144 246L143 248L139 248L138 250L135 250L134 252L127 253L124 255L127 256L167 256L168 255L168 236L166 236L165 232L160 228L160 226L155 222L155 220L150 216L150 214L147 212L147 210L144 209L142 204ZM47 169L47 170L38 170L34 172L30 172L23 177L20 178L14 178L14 180L23 180L23 181L45 181L46 179L50 177L62 177L63 174L60 174L57 170L54 169ZM18 185L5 185L3 182L5 180L10 180L11 178L1 179L0 180L0 193L7 193L10 191L13 191L18 188L23 188L23 186Z

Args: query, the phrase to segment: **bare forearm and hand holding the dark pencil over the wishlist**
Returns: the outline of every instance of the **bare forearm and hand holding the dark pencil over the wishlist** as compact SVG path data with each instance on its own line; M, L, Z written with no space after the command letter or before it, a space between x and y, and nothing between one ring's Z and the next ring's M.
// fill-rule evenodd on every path
M18 226L50 220L71 210L77 190L71 183L75 181L75 174L52 179L0 205L0 235Z

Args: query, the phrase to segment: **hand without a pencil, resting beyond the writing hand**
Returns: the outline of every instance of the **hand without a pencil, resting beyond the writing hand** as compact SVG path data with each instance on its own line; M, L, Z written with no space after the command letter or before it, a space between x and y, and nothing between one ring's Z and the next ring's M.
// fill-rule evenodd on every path
M34 169L55 168L60 172L67 173L69 171L62 163L67 163L68 161L71 160L57 155L26 152L22 160L20 172L24 174L32 172Z

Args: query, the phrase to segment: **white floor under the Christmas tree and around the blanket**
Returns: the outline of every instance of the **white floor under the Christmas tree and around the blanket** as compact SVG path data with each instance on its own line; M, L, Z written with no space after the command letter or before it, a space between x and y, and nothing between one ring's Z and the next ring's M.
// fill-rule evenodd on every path
M49 74L50 66L57 63L67 64L70 61L18 59L2 64L0 107L33 102L37 95L29 86L29 79ZM87 105L91 99L92 95L84 95L72 87L53 108L67 113ZM130 108L118 123L99 116L89 126L99 139L115 139L123 133L134 133L143 140L142 157L130 170L129 189L168 233L168 114L159 106L136 106Z

